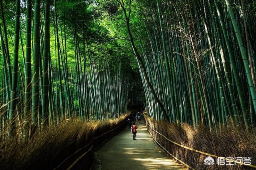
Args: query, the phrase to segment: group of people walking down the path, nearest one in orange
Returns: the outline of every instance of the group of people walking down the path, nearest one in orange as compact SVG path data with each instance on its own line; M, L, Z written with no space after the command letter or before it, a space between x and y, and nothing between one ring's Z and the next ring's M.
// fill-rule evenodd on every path
M140 117L140 112L138 112L138 115L136 114L135 111L132 111L130 113L130 117L128 117L127 123L128 123L128 129L131 130L131 133L133 134L133 140L136 140L136 133L137 133L137 128L135 122L132 124L132 121L136 121L137 124L140 124L141 117Z

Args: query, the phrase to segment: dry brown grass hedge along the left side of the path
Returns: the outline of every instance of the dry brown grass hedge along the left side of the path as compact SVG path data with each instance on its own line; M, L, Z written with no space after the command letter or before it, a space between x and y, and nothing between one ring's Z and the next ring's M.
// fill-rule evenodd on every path
M52 169L78 149L92 142L94 137L124 122L126 116L104 122L66 122L55 128L43 130L40 134L36 133L26 142L18 137L3 140L0 142L1 169ZM109 134L102 135L93 142L94 146L109 137Z

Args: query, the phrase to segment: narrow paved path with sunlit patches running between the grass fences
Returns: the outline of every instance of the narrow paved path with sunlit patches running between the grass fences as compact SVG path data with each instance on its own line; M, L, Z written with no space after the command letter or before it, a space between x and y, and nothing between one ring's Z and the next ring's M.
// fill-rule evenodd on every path
M157 148L147 131L144 117L138 125L136 140L132 140L127 127L96 150L94 158L96 170L184 169Z

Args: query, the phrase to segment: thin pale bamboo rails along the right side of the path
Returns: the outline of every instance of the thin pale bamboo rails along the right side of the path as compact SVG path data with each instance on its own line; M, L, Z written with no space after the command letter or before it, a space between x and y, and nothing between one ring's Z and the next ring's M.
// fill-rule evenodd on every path
M146 120L146 119L145 119ZM213 155L213 154L208 154L206 152L202 152L200 150L196 150L196 149L193 149L193 148L189 148L187 146L184 146L182 144L178 144L177 142L174 142L170 139L168 139L166 136L164 136L163 134L161 134L160 132L156 131L155 129L153 129L150 124L148 123L148 121L146 120L146 127L147 127L147 130L148 130L148 126L150 127L151 130L153 130L154 132L156 132L157 134L159 134L160 136L164 137L166 140L168 140L169 142L173 143L173 144L176 144L177 146L180 146L182 148L185 148L185 149L188 149L188 150L191 150L193 152L197 152L197 153L200 153L200 154L203 154L203 155L206 155L206 156L211 156L211 157L214 157L214 158L218 158L218 157L221 157L221 156L216 156L216 155ZM154 138L154 136L152 135L151 131L148 130L151 134L151 136L153 137L153 139L159 144L159 142ZM172 155L170 152L168 152L166 150L166 148L164 148L161 144L159 144L168 154L170 154L173 158L175 158L176 160L178 160L179 162L181 162L182 164L184 164L185 166L187 166L188 168L194 170L194 168L192 168L191 166L189 166L188 164L186 164L185 162L183 162L182 160L179 160L178 158L176 158L174 155ZM247 165L247 164L244 164L243 162L238 162L236 160L231 160L231 159L227 159L227 158L223 158L224 160L228 160L228 161L232 161L232 162L235 162L236 164L240 164L240 165L244 165L244 166L248 166L248 167L251 167L251 168L255 168L256 169L256 166L255 165Z

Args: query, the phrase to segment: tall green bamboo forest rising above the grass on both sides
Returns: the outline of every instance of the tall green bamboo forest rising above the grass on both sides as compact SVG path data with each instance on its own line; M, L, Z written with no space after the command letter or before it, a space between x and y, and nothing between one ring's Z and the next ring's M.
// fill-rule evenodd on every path
M255 2L0 0L0 7L0 127L9 136L116 118L128 105L195 129L255 127Z

